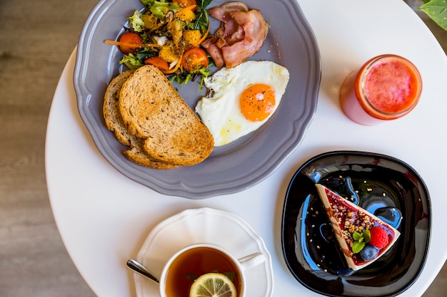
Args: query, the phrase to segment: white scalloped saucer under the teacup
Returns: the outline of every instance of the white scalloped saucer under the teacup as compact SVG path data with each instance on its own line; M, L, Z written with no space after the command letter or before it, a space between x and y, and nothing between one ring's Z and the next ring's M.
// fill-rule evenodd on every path
M236 258L261 252L266 261L246 271L246 296L270 297L273 293L271 256L258 234L240 217L216 209L187 209L158 224L144 242L137 260L159 277L168 259L184 246L217 244ZM160 296L159 286L135 273L136 296Z

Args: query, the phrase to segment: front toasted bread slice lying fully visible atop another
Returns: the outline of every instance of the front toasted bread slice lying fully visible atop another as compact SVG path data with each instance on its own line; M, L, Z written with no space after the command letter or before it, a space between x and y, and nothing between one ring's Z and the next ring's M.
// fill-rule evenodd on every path
M154 160L196 165L214 148L206 125L154 66L143 66L126 80L119 110L129 132L144 139L144 150Z

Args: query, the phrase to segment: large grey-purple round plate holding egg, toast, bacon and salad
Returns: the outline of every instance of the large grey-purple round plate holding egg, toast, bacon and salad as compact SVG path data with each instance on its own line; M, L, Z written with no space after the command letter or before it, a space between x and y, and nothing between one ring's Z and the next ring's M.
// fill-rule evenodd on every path
M209 7L224 1L214 0ZM300 145L316 111L321 79L320 56L313 32L295 0L247 0L270 24L266 41L251 60L273 61L288 68L290 80L278 110L260 129L224 147L215 147L199 165L152 170L126 160L121 145L107 130L102 115L104 92L111 78L124 70L122 54L104 43L124 31L126 18L142 9L139 0L102 0L91 12L79 38L74 87L79 113L96 147L121 174L161 194L201 199L231 194L261 182ZM211 20L211 32L219 26ZM286 33L285 33L286 32ZM194 109L198 83L177 86Z

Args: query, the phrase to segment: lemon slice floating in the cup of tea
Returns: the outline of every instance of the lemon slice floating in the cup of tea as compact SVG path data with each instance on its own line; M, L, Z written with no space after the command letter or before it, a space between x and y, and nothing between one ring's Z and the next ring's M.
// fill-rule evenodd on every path
M237 297L236 287L222 273L206 273L194 281L189 297Z

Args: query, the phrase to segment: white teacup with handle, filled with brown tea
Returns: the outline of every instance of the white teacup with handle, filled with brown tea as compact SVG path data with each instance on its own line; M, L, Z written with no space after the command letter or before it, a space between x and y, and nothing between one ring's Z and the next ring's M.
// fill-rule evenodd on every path
M261 252L236 259L221 246L192 244L177 251L164 266L160 278L160 296L189 296L194 279L205 273L219 272L233 278L238 297L243 297L246 291L244 271L265 261L266 257Z

